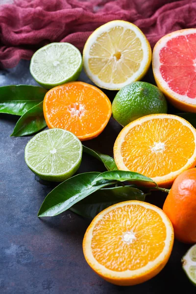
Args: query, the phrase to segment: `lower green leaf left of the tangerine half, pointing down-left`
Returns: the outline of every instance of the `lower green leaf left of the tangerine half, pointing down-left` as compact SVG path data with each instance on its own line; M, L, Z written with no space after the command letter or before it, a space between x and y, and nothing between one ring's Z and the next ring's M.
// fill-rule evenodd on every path
M46 121L43 113L43 102L29 109L18 120L15 125L14 131L10 136L25 136L36 133L46 127Z

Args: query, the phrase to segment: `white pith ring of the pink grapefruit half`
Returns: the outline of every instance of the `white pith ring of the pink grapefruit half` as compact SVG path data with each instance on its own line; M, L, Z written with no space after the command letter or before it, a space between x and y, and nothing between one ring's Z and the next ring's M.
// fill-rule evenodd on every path
M161 84L161 86L163 87L163 89L166 90L167 93L169 93L173 98L176 98L177 100L180 100L182 102L185 102L189 105L196 105L196 98L189 98L186 95L180 95L175 93L174 91L172 91L170 89L170 87L168 86L168 83L163 79L161 73L160 73L160 66L162 65L162 63L160 62L160 58L159 58L159 52L160 50L166 46L166 43L171 40L172 38L175 38L177 36L185 36L185 35L189 35L189 34L195 34L196 33L196 28L190 28L190 29L186 29L186 30L179 30L179 31L175 31L172 32L166 36L164 36L163 38L161 38L157 44L154 47L153 53L152 53L152 68L153 68L153 72L154 75L156 76L156 78L158 79L159 83Z

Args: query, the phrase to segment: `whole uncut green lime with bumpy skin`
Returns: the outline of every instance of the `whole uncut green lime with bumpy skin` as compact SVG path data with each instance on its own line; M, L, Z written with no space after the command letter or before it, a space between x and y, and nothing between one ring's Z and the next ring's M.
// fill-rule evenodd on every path
M123 126L156 113L167 113L166 98L156 86L146 82L133 82L123 87L112 103L113 117Z

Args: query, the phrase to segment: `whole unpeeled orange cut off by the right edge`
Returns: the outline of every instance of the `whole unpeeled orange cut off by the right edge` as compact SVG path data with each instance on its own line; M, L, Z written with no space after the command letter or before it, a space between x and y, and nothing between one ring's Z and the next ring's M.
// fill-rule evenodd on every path
M163 211L172 221L177 240L196 243L196 168L182 172L175 179Z

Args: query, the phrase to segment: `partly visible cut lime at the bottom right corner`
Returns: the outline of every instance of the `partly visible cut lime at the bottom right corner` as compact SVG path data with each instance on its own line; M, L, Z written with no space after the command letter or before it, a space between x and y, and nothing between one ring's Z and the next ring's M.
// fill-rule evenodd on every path
M196 286L196 245L193 245L183 256L182 268L189 280Z

